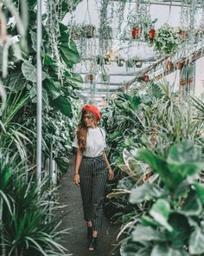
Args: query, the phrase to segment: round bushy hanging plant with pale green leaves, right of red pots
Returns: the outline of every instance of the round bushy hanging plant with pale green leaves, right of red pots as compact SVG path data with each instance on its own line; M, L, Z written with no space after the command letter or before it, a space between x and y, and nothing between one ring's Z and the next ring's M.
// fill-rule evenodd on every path
M156 51L164 55L174 54L178 49L181 39L177 31L165 23L158 30L154 39L154 47Z

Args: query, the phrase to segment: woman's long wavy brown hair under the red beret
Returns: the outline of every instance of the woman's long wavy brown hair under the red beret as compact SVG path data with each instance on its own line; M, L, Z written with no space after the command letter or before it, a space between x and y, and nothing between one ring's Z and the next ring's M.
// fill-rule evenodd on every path
M86 138L87 138L87 134L88 134L88 128L86 127L85 122L84 122L84 116L86 114L91 115L95 125L97 125L97 118L95 115L92 114L91 111L89 111L89 110L82 111L80 123L77 128L77 140L78 140L78 144L79 144L81 152L84 152L86 150Z

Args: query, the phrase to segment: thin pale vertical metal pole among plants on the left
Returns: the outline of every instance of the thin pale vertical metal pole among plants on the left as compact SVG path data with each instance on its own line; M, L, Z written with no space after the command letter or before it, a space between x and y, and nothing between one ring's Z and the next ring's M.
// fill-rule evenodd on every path
M37 0L37 183L41 185L41 0Z

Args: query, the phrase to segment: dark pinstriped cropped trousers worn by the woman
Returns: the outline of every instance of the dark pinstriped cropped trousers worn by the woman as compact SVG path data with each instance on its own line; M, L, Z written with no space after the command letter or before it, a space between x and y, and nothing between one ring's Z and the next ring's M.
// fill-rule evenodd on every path
M84 219L92 221L93 230L99 231L102 226L102 204L108 174L103 155L98 157L83 156L79 174Z

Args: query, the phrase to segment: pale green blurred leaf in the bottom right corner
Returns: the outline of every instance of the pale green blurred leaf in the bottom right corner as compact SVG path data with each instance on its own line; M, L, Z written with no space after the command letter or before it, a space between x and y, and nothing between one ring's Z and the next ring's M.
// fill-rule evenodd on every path
M196 226L193 233L191 233L189 240L189 253L198 254L204 253L204 228L203 226Z

